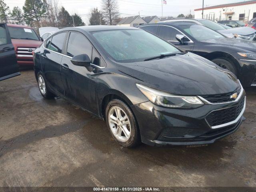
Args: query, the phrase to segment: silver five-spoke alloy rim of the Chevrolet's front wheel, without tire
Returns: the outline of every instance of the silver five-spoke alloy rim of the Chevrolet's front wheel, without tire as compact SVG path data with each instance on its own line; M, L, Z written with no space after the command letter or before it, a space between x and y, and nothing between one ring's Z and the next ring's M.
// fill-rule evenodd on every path
M131 124L128 115L118 106L112 106L108 112L108 123L115 138L126 142L131 136Z

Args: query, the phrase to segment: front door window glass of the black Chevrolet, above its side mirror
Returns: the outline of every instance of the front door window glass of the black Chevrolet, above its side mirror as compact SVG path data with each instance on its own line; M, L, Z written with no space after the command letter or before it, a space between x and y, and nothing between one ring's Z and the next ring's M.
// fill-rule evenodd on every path
M87 54L91 58L92 45L83 34L71 32L68 40L67 55L74 57L80 54Z

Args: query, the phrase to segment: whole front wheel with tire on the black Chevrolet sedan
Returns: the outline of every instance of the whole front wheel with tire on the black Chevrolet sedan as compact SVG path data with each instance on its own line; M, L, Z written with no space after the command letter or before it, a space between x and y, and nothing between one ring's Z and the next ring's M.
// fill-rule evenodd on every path
M133 148L141 143L136 119L123 101L119 99L111 100L106 107L105 114L108 130L118 144Z

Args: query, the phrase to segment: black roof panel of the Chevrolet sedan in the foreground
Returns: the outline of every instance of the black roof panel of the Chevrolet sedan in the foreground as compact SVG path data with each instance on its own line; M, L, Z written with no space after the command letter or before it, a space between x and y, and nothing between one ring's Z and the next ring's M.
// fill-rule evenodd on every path
M85 32L94 32L94 31L108 31L108 30L140 30L134 27L125 27L125 26L108 26L108 25L91 25L91 26L81 26L81 27L69 27L63 28L59 31L66 31L66 30L83 30Z

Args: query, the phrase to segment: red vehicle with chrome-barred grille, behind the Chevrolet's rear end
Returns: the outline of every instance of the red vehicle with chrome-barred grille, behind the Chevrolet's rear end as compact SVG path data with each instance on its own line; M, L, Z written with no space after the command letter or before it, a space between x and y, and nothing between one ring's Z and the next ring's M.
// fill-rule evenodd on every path
M42 44L33 28L23 25L7 24L20 67L33 67L32 51Z

